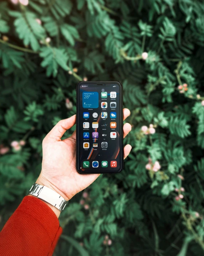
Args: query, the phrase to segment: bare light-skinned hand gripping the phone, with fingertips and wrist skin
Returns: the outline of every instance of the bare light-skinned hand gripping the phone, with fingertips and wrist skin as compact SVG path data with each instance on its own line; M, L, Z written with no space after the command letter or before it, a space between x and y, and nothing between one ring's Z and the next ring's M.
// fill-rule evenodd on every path
M130 115L127 108L123 109L124 120ZM65 140L61 140L66 130L76 122L76 115L59 121L42 141L42 170L36 183L45 185L66 200L87 188L100 174L79 174L76 170L76 130ZM131 125L123 126L124 137L131 131ZM124 158L131 151L131 145L124 147ZM48 204L50 207L51 205ZM60 211L51 207L59 216Z

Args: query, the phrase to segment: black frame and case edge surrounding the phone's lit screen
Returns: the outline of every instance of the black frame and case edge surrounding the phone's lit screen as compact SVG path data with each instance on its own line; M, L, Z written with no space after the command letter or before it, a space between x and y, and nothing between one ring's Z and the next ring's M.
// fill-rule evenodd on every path
M114 171L114 170L110 170L110 171L106 171L106 172L102 172L102 171L99 171L99 172L82 172L79 168L78 168L78 162L79 162L79 155L78 155L78 143L80 141L80 138L79 138L79 110L80 110L80 94L78 93L78 88L80 87L81 84L96 84L97 86L97 83L102 83L102 85L98 85L98 86L101 86L101 87L105 87L106 84L112 84L112 83L117 83L119 86L121 86L121 97L120 97L120 101L121 101L121 151L122 151L122 154L121 154L121 168L117 171ZM103 85L105 84L105 85ZM76 114L76 169L77 169L77 172L80 173L80 174L105 174L105 173L119 173L123 170L123 167L124 167L124 153L123 153L123 85L122 83L120 83L119 81L80 81L77 86L76 86L76 106L77 106L77 114Z

